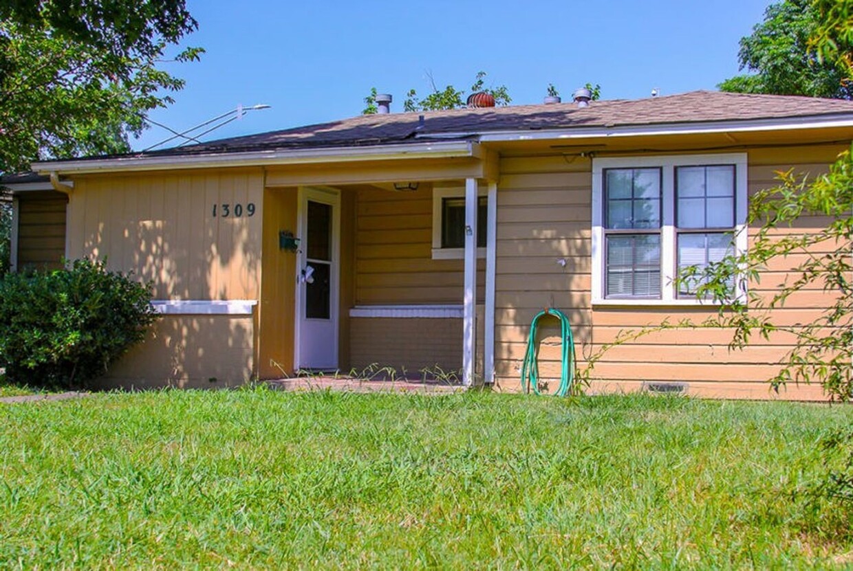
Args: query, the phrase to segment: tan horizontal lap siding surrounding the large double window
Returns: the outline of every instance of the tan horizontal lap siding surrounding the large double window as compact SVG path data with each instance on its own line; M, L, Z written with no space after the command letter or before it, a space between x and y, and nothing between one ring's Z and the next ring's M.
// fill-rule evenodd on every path
M815 176L827 170L841 147L750 150L749 193L775 185L776 171L793 168ZM612 343L620 331L689 318L701 322L705 308L643 308L591 305L591 163L561 157L504 158L498 191L496 260L496 377L502 389L519 388L519 368L534 314L553 305L572 320L578 360ZM820 232L826 221L805 218L792 233ZM751 231L754 235L754 230ZM828 246L827 246L828 247ZM561 258L566 267L560 266ZM753 291L768 294L802 260L777 261ZM804 323L831 303L820 290L806 291L777 311L782 323ZM559 336L545 328L541 349L544 376L559 373ZM594 389L638 389L644 382L683 382L697 395L769 398L766 380L790 349L791 339L756 340L744 351L729 351L730 332L655 332L609 349L595 366ZM784 398L820 398L814 385L789 387Z

